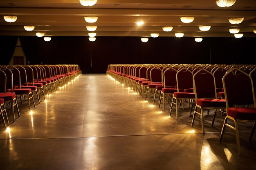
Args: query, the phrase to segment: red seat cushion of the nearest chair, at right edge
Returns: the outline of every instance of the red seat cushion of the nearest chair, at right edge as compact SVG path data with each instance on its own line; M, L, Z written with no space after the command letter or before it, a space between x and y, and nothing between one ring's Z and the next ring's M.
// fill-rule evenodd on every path
M229 108L227 115L235 119L256 120L256 108Z

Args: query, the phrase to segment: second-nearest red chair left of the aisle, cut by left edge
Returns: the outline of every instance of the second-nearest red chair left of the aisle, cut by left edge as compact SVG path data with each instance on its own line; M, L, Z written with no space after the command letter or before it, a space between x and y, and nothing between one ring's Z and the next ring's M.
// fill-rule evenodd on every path
M4 102L11 102L11 108L13 113L13 122L15 121L16 106L18 117L20 117L20 111L18 108L18 102L15 93L13 93L13 77L11 71L8 68L0 68L0 98L4 99ZM7 88L11 88L11 92L7 92Z

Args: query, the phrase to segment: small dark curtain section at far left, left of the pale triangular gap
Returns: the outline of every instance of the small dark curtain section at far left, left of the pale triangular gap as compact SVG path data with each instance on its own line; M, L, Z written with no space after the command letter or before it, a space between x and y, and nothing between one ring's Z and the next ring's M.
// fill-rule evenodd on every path
M16 44L18 41L18 36L0 36L0 53L1 60L0 65L8 65L13 56Z

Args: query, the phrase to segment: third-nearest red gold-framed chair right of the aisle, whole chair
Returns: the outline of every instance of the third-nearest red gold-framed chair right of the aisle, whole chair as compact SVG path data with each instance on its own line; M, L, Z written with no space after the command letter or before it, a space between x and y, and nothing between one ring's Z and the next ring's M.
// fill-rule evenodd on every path
M171 102L171 109L170 109L170 115L173 108L173 105L176 107L176 120L178 120L178 101L188 99L189 100L189 106L190 106L190 100L192 100L192 106L190 109L190 114L192 112L193 108L193 100L195 99L195 93L193 92L193 73L186 68L182 68L180 71L176 74L177 79L177 92L173 93L173 98ZM184 110L184 102L183 103L183 110Z

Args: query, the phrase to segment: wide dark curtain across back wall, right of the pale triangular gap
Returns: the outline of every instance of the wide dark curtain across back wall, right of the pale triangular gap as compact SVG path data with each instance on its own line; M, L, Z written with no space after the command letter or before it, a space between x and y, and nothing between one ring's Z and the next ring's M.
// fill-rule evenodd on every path
M83 73L106 73L108 64L256 64L256 38L20 37L30 64L79 64ZM91 60L92 59L92 60Z

